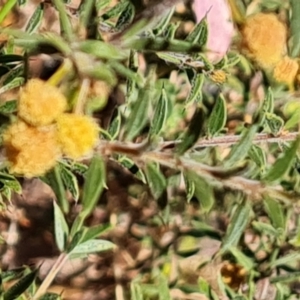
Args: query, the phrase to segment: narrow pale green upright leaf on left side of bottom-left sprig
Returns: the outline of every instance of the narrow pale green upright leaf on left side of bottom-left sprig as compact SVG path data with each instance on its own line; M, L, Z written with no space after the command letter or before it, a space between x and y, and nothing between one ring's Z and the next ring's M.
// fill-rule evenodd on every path
M60 207L53 202L54 205L54 232L55 241L58 249L63 252L66 247L66 242L69 236L69 227Z

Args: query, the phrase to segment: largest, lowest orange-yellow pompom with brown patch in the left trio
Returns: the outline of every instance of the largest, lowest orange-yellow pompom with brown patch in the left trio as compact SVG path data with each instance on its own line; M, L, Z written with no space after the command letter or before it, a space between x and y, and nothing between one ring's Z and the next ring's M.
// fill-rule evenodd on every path
M4 132L3 143L11 173L44 175L61 156L55 126L32 127L18 120Z

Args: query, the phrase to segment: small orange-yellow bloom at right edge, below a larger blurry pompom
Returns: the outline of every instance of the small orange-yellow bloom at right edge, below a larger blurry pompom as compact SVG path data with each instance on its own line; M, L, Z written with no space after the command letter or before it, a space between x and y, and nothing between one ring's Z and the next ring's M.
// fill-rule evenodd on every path
M298 69L298 62L295 59L286 56L276 64L273 73L274 79L292 87L298 73Z

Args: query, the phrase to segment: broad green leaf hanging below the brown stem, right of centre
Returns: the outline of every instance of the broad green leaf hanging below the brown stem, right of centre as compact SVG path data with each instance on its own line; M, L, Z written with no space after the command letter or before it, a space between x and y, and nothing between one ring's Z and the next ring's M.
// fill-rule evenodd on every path
M199 200L203 212L209 212L215 203L213 187L198 174L188 171L185 174L188 186L194 186L194 196Z

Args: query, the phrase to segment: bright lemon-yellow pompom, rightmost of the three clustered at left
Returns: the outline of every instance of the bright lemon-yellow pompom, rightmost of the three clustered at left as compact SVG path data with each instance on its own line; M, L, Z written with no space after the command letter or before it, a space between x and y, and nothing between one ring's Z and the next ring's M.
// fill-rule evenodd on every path
M98 141L98 126L87 116L62 114L57 118L57 131L62 152L73 159L88 155Z

